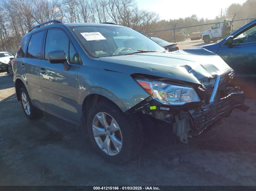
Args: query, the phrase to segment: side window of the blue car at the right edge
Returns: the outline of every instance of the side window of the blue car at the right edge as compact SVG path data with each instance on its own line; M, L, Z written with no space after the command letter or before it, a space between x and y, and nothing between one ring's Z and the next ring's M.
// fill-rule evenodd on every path
M238 34L238 36L233 39L233 44L253 42L256 42L256 25Z

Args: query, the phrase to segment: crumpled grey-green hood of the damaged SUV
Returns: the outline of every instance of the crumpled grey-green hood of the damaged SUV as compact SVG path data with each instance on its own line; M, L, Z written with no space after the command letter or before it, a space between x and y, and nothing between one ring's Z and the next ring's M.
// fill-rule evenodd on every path
M104 69L116 72L148 74L197 84L232 70L221 57L203 48L101 57L100 60L109 62Z

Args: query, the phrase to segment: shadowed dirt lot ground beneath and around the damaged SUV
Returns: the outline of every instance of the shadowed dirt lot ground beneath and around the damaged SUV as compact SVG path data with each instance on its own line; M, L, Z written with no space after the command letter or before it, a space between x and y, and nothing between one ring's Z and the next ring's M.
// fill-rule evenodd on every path
M171 128L145 128L140 164L115 165L79 126L47 114L27 119L12 80L0 73L0 185L256 185L256 100L188 145Z

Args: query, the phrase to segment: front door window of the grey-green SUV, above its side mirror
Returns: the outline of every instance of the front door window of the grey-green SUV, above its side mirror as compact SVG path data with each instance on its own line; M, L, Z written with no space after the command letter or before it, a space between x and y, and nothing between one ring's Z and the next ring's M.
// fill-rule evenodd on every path
M62 30L59 30L59 29L48 30L46 41L45 41L45 59L48 59L49 52L52 52L54 50L63 50L68 60L69 58L68 43L69 43L69 39Z

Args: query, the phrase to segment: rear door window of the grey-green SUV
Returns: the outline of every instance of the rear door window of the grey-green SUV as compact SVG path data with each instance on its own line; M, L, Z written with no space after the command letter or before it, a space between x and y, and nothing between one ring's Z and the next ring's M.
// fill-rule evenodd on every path
M28 44L28 58L41 58L42 42L44 39L45 31L34 33Z

